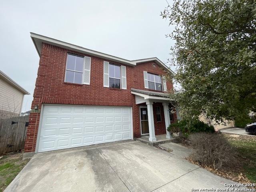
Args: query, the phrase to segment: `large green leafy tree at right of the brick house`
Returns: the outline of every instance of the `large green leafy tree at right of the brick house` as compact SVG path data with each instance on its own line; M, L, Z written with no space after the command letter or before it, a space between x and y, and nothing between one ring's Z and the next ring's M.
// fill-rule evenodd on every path
M256 106L256 1L174 0L162 17L169 34L181 88L170 94L183 118L204 113L222 122Z

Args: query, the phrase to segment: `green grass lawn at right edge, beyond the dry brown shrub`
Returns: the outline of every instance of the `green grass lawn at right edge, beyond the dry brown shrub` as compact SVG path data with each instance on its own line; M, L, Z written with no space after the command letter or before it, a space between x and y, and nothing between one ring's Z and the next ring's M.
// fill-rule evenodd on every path
M241 163L244 167L244 174L252 183L256 183L256 138L243 136L228 140L243 160Z

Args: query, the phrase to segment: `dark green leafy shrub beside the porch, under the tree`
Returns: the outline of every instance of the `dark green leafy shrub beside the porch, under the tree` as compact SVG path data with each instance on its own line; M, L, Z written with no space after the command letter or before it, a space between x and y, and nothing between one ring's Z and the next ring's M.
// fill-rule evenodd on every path
M171 133L182 132L184 137L188 137L192 133L197 132L214 132L213 126L208 126L200 120L179 120L175 123L170 124L167 130Z

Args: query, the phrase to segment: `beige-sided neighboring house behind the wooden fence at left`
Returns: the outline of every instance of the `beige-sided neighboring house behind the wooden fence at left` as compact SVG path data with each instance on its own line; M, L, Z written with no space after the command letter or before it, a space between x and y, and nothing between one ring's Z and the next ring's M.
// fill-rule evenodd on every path
M28 94L0 70L0 119L20 116L24 95Z

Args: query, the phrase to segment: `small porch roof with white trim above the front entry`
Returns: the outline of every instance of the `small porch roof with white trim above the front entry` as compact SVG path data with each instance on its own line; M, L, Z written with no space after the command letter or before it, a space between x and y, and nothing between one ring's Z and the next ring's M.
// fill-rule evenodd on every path
M159 102L166 102L170 100L168 98L168 94L162 92L131 88L131 93L135 95L136 104L144 103L146 100L156 100Z

